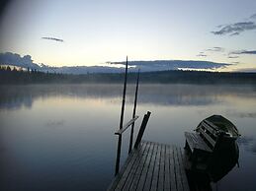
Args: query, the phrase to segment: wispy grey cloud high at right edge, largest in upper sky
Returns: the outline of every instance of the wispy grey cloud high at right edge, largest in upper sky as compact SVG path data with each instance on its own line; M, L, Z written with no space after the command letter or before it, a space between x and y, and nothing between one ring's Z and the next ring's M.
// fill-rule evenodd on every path
M219 31L212 32L215 35L238 35L241 32L256 30L254 22L239 22L229 25L223 25Z

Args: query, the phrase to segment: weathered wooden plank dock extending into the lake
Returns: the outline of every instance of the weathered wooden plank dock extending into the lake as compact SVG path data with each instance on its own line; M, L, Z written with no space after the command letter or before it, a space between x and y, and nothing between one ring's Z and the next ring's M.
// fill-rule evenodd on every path
M142 141L108 190L190 190L181 148Z

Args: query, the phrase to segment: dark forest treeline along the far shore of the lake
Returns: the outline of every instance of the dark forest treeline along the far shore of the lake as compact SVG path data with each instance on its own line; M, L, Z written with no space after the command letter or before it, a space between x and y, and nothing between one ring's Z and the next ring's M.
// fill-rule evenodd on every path
M91 73L83 75L44 73L33 69L0 67L0 84L79 84L123 83L123 73ZM136 73L128 73L128 83L135 82ZM140 83L180 84L256 84L256 73L158 71L140 74Z

